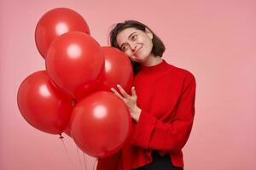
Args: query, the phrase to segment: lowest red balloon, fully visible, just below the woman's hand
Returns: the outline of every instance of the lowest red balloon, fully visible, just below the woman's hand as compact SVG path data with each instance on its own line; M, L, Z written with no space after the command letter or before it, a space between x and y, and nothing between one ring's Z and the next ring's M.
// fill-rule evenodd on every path
M79 148L95 157L106 157L123 147L131 132L131 116L115 94L90 94L73 109L71 132Z

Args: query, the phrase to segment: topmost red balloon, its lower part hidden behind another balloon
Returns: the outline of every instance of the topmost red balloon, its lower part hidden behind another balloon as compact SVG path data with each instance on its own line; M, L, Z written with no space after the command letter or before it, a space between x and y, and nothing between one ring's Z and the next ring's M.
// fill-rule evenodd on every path
M35 40L39 53L45 58L51 42L55 37L68 31L82 31L90 34L89 26L84 18L69 8L49 10L38 21Z

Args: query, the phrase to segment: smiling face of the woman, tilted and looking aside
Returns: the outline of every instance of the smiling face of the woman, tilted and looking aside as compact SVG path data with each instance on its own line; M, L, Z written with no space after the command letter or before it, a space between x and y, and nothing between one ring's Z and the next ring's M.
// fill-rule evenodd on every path
M133 61L143 63L148 59L153 48L153 34L136 28L126 28L116 37L119 48Z

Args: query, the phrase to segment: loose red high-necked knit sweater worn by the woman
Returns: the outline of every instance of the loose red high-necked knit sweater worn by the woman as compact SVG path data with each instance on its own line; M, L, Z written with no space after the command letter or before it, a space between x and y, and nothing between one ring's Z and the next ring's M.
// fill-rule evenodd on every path
M131 170L152 162L151 151L169 154L183 167L182 148L189 139L195 115L195 77L166 63L143 66L134 79L137 105L142 109L132 122L122 150L100 159L97 170Z

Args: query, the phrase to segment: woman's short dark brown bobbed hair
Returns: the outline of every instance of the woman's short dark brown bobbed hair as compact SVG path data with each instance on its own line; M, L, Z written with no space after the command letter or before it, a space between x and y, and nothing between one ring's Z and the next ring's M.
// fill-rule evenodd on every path
M109 41L110 41L110 44L112 47L119 48L121 50L121 48L117 44L116 37L120 31L123 31L126 28L135 28L137 30L141 30L144 32L146 31L146 28L147 28L149 31L151 31L151 33L153 34L153 38L152 38L153 48L152 48L151 53L154 54L154 56L162 57L162 55L164 54L164 52L166 50L164 43L160 40L159 37L157 37L154 34L154 32L150 28L148 28L148 26L145 26L143 23L138 22L137 20L125 20L124 22L115 24L112 31L109 32ZM137 72L140 70L141 65L140 65L140 63L137 63L132 60L131 60L131 65L133 68L133 72L136 75Z

